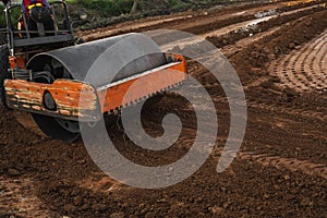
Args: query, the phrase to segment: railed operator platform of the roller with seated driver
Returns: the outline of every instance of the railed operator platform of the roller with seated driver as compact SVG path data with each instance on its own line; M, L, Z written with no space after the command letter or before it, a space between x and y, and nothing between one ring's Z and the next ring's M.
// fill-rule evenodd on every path
M31 10L29 17L22 12L21 4L11 4L4 12L12 56L20 51L46 51L74 44L65 1L51 2L49 9L35 7Z

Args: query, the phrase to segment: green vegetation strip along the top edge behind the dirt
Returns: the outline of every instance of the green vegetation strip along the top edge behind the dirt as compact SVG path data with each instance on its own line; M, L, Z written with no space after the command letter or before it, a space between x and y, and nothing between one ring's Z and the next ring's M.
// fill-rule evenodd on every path
M59 0L49 0L49 2ZM86 9L92 23L106 25L106 19L112 16L120 16L122 14L130 14L133 3L136 0L66 0L72 20L78 20L80 11ZM242 0L137 0L137 8L135 11L140 17L142 15L167 14L187 9L198 9L209 7L217 3L230 3ZM12 4L21 5L21 0L12 0ZM12 23L16 23L20 16L21 8L17 7L12 12ZM57 14L58 15L58 14ZM120 20L118 20L119 22ZM123 21L123 20L122 20ZM101 24L104 23L104 24ZM0 3L0 28L4 27L5 17L3 13L3 5ZM90 25L90 28L96 27Z

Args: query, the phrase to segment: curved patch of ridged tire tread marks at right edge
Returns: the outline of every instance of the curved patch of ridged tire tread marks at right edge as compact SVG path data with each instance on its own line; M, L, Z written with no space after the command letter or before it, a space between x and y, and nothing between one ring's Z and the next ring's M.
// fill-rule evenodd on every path
M327 90L327 31L300 50L275 61L270 69L282 86L298 92Z

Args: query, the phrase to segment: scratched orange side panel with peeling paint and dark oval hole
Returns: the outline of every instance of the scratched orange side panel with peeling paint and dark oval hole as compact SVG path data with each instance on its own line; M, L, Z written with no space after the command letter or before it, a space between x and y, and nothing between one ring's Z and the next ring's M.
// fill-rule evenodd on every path
M8 106L28 112L57 114L74 119L80 116L94 120L94 118L87 117L89 117L89 111L97 109L95 88L77 81L57 80L53 84L41 84L23 80L7 80L4 87ZM44 106L43 98L46 92L49 92L55 99L56 111L47 110Z

